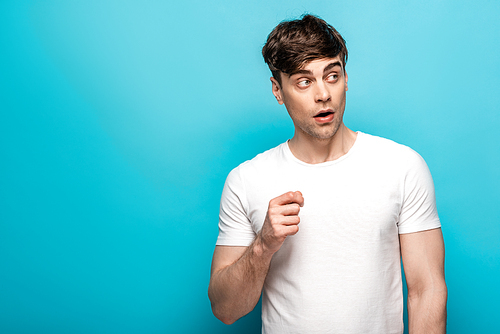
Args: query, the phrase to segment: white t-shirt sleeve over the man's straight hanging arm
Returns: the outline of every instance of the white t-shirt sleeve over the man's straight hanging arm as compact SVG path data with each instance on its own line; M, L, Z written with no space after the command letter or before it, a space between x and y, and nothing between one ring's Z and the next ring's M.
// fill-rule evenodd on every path
M405 156L403 202L399 215L400 234L441 227L432 176L424 159L415 151Z

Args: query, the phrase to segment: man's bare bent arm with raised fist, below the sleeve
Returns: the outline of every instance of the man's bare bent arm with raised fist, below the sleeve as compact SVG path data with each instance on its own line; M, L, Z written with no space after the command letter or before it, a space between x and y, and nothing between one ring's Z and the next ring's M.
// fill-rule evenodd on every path
M298 213L304 199L288 192L269 202L266 219L248 247L216 246L208 297L214 315L232 324L259 301L272 256L285 238L298 232Z

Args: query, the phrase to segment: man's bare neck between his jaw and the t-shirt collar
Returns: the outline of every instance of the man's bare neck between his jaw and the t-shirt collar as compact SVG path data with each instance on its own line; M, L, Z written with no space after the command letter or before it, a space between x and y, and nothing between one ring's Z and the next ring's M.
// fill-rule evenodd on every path
M347 154L356 138L356 132L341 124L335 135L328 139L312 138L295 132L288 146L297 159L309 164L318 164L337 160Z

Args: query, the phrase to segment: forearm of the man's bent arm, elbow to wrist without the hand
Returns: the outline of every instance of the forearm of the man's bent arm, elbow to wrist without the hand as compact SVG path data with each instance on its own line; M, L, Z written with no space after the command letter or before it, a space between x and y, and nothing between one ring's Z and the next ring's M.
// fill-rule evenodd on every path
M257 237L233 264L212 274L208 296L214 315L232 324L253 310L259 301L272 253Z

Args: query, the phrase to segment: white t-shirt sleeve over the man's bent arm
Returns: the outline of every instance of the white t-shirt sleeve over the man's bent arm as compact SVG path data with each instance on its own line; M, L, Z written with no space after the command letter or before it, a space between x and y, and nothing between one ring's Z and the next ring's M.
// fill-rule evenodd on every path
M255 238L252 224L247 217L245 188L239 168L229 173L219 211L218 246L249 246Z

